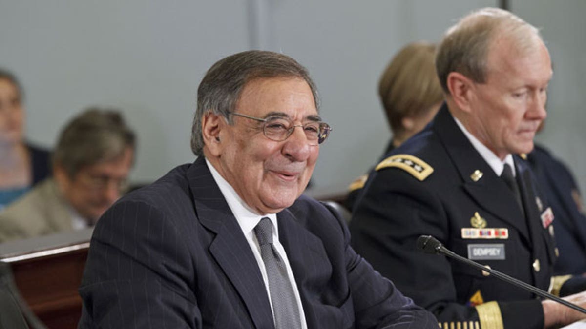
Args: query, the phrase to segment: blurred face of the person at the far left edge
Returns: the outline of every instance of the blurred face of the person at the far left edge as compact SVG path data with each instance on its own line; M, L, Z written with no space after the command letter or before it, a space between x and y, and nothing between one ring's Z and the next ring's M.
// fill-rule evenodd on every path
M21 141L24 109L18 88L9 80L0 78L0 143Z

